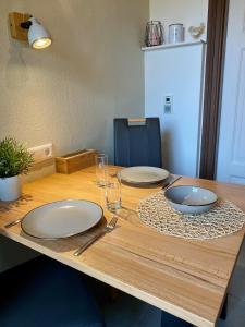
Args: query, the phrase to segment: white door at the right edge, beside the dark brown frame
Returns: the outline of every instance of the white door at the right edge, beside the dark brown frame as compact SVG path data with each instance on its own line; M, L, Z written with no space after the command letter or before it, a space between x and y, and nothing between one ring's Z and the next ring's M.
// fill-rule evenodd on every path
M231 0L217 180L245 184L245 1Z

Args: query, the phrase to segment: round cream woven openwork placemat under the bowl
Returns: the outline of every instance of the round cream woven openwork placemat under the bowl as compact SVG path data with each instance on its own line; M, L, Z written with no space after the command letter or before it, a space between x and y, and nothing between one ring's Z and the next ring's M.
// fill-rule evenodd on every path
M168 204L162 192L140 201L138 215L158 232L191 240L208 240L232 234L245 223L245 214L229 201L219 199L208 213L183 215Z

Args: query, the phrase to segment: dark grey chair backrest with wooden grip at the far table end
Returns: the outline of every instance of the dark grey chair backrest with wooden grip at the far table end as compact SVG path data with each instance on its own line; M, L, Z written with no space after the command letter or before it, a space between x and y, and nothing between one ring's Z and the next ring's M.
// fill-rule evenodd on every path
M127 119L114 119L114 164L162 167L159 118L133 125Z

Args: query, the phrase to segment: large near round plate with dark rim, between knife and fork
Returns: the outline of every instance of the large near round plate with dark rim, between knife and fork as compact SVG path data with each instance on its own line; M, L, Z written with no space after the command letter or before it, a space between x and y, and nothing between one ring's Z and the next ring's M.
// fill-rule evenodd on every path
M29 211L22 219L22 229L38 239L64 239L93 228L102 215L102 208L89 201L59 201Z

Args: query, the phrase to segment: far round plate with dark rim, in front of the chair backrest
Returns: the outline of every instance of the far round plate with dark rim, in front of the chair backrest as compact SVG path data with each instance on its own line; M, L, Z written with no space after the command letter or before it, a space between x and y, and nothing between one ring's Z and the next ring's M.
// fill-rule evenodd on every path
M124 168L119 172L123 182L131 184L154 184L166 180L169 171L147 166Z

